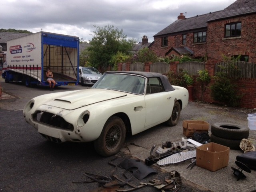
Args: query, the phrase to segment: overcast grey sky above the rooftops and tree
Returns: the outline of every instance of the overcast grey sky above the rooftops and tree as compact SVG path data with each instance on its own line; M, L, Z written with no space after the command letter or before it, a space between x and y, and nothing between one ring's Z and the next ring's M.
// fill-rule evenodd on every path
M236 0L1 0L0 28L92 39L94 25L113 25L141 42L177 20L223 10ZM186 14L185 14L186 12Z

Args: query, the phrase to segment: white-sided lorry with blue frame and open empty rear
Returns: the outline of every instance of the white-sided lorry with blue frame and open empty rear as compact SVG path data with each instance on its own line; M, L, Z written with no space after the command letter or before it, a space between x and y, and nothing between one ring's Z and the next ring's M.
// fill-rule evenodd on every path
M56 86L77 85L79 38L37 32L7 41L6 62L2 68L5 82L23 82L27 87L48 86L46 68L50 67Z

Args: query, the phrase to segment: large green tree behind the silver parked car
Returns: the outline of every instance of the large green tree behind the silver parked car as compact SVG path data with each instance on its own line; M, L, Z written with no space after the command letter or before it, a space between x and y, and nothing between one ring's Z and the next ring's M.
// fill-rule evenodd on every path
M93 32L94 37L89 43L91 46L88 48L88 61L92 66L106 69L108 66L114 66L111 58L117 52L130 54L129 51L132 50L135 40L127 40L127 36L123 34L123 29L119 30L109 25L104 27L94 25L94 27L96 30Z

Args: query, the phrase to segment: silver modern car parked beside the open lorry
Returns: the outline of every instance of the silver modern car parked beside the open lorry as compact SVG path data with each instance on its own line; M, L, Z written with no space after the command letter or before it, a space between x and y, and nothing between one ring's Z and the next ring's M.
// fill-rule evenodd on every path
M81 85L93 85L102 74L94 67L79 67L79 82Z

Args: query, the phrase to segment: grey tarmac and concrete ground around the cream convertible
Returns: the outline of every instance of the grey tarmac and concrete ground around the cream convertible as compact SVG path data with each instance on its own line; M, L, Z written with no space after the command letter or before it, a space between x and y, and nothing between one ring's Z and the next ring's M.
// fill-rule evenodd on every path
M50 93L48 88L26 88L19 83L5 84L0 78L3 92L8 99L0 101L0 191L91 191L98 188L97 183L74 184L73 181L84 181L84 172L107 176L113 167L108 165L112 157L102 158L94 151L92 143L76 144L66 143L56 145L47 142L30 127L23 119L22 109L31 98ZM73 89L86 89L84 86L60 87L55 91ZM90 88L90 87L89 87ZM6 96L6 95L5 95ZM211 104L189 102L187 108L182 110L180 122L177 126L167 127L160 124L140 134L126 138L122 152L118 153L117 161L124 158L138 158L144 162L149 157L150 149L154 144L162 142L180 141L183 120L204 120L213 124L215 122L230 122L247 126L247 115L252 110L240 108L226 108ZM256 112L255 112L256 113ZM209 132L210 134L210 132ZM250 130L249 138L255 141L256 130ZM255 144L255 143L254 143ZM152 178L164 178L172 170L180 172L184 178L184 186L180 192L190 191L232 191L252 192L256 190L256 171L244 172L244 180L236 181L231 167L236 167L236 155L242 150L230 150L229 164L216 172L210 172L195 166L192 170L186 169L190 161L159 167L151 167L158 171L142 182ZM122 170L118 169L118 174ZM141 181L133 180L134 184ZM159 191L152 186L146 186L136 191Z

